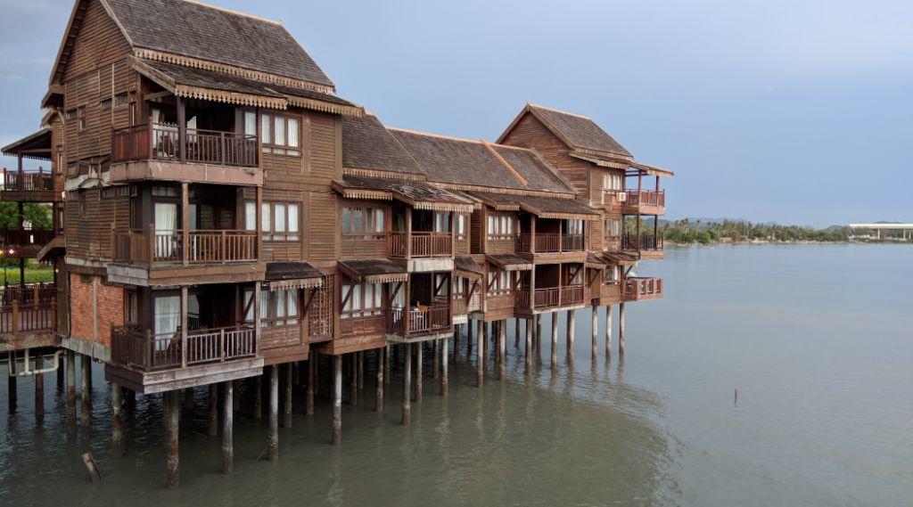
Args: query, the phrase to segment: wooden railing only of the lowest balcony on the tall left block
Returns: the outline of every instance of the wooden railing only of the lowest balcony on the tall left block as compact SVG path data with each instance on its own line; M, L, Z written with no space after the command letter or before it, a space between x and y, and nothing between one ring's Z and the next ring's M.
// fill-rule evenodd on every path
M253 326L200 329L154 335L139 326L111 328L111 362L142 371L158 371L257 356Z

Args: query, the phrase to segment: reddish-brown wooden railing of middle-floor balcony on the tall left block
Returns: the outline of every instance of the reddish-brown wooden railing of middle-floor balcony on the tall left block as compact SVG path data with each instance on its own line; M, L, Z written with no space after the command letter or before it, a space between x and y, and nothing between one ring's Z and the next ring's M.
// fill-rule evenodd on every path
M253 231L193 231L188 233L187 262L228 264L257 261L257 233ZM152 239L150 239L152 238ZM184 262L182 231L115 231L111 258L127 263Z

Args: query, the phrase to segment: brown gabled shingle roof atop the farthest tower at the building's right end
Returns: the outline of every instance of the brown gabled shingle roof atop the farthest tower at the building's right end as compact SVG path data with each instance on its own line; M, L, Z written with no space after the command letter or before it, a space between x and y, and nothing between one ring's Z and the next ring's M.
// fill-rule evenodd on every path
M498 142L502 142L519 119L523 118L527 113L539 119L546 128L550 129L552 133L568 145L568 148L594 151L609 156L616 155L625 159L633 158L631 153L625 150L621 143L614 140L593 119L533 104L527 104L519 112L517 118L510 123L508 129L498 138Z

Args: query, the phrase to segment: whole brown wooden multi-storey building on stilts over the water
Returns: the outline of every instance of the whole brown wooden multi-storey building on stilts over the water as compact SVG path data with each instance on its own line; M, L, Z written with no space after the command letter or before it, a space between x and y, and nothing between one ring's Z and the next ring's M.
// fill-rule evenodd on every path
M342 402L360 402L368 371L383 410L400 368L408 424L423 379L446 394L462 350L479 386L489 355L506 378L510 319L530 372L543 314L568 315L570 358L575 312L593 311L595 354L596 312L619 305L624 351L624 303L663 295L631 270L663 256L671 172L592 119L539 106L497 142L384 126L278 22L187 0L78 0L42 107L43 129L3 150L20 163L0 199L20 210L7 256L53 264L55 283L4 285L0 352L19 373L65 370L74 426L77 365L84 426L93 362L115 419L137 393L160 397L169 487L194 389L208 392L228 473L241 393L278 460L279 426L313 414L321 388L341 443ZM49 167L26 172L23 158ZM51 207L49 230L26 229L25 202ZM120 419L111 441L121 455Z

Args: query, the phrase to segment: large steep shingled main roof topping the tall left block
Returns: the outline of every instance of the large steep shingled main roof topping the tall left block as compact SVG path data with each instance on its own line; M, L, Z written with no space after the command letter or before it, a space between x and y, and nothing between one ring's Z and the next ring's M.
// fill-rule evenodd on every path
M334 86L278 22L188 0L106 3L134 48Z

